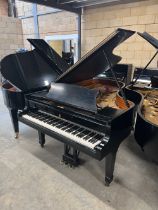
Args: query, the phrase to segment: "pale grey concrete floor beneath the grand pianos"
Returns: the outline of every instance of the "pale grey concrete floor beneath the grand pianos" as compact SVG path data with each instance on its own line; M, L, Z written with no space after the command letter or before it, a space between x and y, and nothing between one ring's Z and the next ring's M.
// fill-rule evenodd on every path
M132 136L118 152L115 179L104 186L104 161L81 153L76 169L60 164L63 144L20 125L13 138L0 95L0 210L158 210L158 166L140 151Z

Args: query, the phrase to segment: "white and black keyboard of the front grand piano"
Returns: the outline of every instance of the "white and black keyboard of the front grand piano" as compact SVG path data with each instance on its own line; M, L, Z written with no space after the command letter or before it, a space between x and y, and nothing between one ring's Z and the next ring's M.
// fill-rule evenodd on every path
M104 138L103 134L42 111L29 112L22 117L90 149L94 149Z

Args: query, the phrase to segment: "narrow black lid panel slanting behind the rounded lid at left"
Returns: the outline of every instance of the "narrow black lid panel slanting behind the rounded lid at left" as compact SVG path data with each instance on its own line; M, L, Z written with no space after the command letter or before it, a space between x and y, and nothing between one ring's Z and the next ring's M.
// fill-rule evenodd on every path
M27 39L38 51L38 53L46 59L49 64L58 70L59 74L65 72L69 65L66 61L43 39Z

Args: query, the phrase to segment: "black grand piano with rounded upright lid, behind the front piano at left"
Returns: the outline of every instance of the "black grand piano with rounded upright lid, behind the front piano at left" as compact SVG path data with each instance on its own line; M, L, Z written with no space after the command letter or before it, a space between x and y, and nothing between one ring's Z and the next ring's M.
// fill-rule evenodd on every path
M7 56L1 62L2 93L9 109L15 138L19 136L18 110L25 108L25 94L45 89L69 68L64 59L42 39L28 39L34 50Z

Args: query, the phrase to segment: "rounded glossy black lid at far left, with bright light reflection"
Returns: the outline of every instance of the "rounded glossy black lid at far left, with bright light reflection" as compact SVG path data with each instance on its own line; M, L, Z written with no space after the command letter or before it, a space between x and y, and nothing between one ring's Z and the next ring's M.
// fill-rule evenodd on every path
M59 76L36 50L6 56L1 61L1 73L24 92L46 87Z

